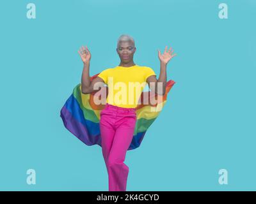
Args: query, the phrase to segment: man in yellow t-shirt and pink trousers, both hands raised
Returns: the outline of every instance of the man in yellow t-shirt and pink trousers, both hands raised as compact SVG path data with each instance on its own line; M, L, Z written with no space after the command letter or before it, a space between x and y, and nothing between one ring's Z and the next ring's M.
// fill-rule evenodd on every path
M116 48L120 64L115 68L105 69L93 78L92 82L89 75L90 51L87 47L81 47L78 51L84 63L81 79L82 93L90 94L99 90L100 86L97 83L107 84L109 88L106 106L100 113L102 154L109 175L109 191L126 190L129 168L124 164L124 160L136 126L135 108L139 102L138 96L145 84L148 84L157 94L165 94L166 65L176 55L172 55L171 49L167 51L165 47L163 54L158 50L160 75L157 79L152 68L134 63L133 55L136 52L134 40L131 36L122 35L118 39ZM133 91L134 87L136 92Z

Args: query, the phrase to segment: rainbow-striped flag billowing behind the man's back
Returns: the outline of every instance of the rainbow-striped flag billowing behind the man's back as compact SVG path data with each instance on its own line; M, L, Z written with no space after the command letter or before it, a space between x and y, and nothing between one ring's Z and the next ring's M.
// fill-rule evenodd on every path
M92 81L97 75L99 73L90 77L90 80ZM128 150L140 147L147 129L163 110L167 95L170 89L172 89L173 84L175 84L173 80L167 82L166 92L163 96L150 94L150 91L141 92L141 104L136 106L136 127ZM104 87L104 89L106 89L106 96L108 96L108 87ZM65 128L83 143L89 146L97 144L101 147L99 122L100 112L105 104L96 105L93 102L93 97L95 97L97 92L83 94L81 92L81 84L76 85L71 96L61 108L60 117L63 120ZM155 98L156 104L150 103L152 97Z

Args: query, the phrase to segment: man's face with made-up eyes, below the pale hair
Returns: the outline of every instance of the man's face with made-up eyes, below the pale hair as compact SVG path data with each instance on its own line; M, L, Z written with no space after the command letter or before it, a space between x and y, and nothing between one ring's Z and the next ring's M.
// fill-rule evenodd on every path
M130 62L133 60L133 54L136 51L132 41L121 41L116 48L116 51L122 62Z

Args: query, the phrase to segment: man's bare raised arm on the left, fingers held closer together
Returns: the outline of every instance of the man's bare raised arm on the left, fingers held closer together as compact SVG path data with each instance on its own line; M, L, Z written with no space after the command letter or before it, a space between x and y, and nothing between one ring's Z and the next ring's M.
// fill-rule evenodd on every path
M104 81L100 77L95 77L95 78L93 78L92 82L90 81L90 74L89 74L90 73L90 59L91 59L90 51L88 50L87 46L86 46L86 49L84 49L84 47L82 47L79 51L78 51L78 53L79 53L79 55L83 61L83 64L84 64L82 78L81 78L81 91L83 94L89 94L93 91L99 90L100 85L103 85L103 84L96 84L97 82L104 83Z

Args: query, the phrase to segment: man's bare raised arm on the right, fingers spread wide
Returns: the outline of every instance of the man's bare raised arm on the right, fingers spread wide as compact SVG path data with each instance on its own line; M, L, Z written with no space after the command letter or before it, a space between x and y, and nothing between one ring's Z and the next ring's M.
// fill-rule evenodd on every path
M150 87L151 90L154 90L159 95L164 95L165 94L165 88L166 88L166 83L167 83L167 77L166 77L166 67L168 62L172 59L177 54L173 54L173 50L171 52L172 47L166 52L167 46L165 47L163 55L161 52L158 50L158 57L160 60L160 75L158 80L156 79L155 75L152 75L147 78L147 83L148 86ZM151 82L151 83L150 83Z

